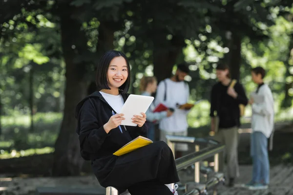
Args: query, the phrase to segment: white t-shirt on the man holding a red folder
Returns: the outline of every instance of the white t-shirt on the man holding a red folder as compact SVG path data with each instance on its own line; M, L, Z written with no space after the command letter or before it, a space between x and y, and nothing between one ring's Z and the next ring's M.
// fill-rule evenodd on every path
M163 118L160 121L159 128L167 132L184 132L188 129L187 114L189 111L177 109L176 104L185 104L189 97L189 87L184 81L175 82L171 79L165 79L167 84L167 98L164 101L166 86L164 81L160 82L157 89L155 105L163 103L168 108L174 108L175 112L171 117Z

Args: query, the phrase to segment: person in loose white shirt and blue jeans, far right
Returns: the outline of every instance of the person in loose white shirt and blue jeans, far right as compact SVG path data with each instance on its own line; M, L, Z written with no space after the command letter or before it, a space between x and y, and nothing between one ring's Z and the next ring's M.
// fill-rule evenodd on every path
M253 68L251 71L252 80L258 85L249 101L252 107L251 157L253 170L252 179L246 184L246 187L251 190L267 189L270 182L270 162L267 148L268 138L272 134L274 124L274 101L271 89L263 82L265 75L265 70L262 67Z

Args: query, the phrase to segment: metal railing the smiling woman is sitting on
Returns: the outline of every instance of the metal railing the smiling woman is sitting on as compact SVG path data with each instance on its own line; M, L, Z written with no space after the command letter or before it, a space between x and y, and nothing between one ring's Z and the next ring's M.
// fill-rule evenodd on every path
M207 190L213 189L218 183L224 181L224 175L222 173L215 173L209 178L205 184L200 184L200 161L205 160L209 157L214 157L214 172L223 170L223 167L219 166L219 155L223 155L225 149L224 145L209 138L195 138L195 137L184 137L184 136L166 136L167 145L175 154L176 143L188 143L194 145L195 152L192 152L186 156L175 159L177 171L186 169L190 165L194 165L194 182L186 184L186 193L184 195L205 195ZM205 148L200 149L201 146ZM222 165L223 163L221 163ZM214 192L214 194L216 194ZM106 195L119 195L119 192L114 187L106 188ZM130 195L128 191L121 195Z

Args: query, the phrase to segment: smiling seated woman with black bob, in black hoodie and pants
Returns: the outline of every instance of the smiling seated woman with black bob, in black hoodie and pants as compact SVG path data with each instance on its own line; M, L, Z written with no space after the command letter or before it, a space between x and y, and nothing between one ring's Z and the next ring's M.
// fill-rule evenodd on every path
M145 113L143 117L133 116L135 127L122 126L125 118L117 114L129 96L129 78L125 54L111 50L102 56L96 73L97 91L76 106L81 155L91 160L103 187L113 186L120 193L128 189L131 195L178 195L171 187L179 181L174 156L165 142L154 142L123 156L113 155L134 138L146 137Z

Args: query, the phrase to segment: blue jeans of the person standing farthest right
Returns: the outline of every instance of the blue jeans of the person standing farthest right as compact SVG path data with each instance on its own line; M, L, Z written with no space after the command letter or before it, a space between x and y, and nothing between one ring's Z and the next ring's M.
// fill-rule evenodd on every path
M270 162L268 156L268 138L261 132L251 134L252 182L270 183Z

